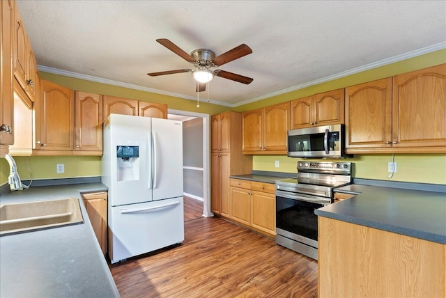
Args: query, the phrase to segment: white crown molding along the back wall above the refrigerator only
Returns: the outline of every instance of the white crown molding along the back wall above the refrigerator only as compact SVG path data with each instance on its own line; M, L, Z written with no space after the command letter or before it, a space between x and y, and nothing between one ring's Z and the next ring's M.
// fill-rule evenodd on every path
M197 97L187 96L187 95L173 93L173 92L161 91L161 90L147 88L147 87L134 85L134 84L123 83L121 81L114 81L112 79L104 79L102 77L94 77L92 75L83 75L83 74L79 74L78 72L70 72L68 70L59 70L58 68L49 68L49 67L43 66L43 65L38 65L38 70L42 71L42 72L49 72L54 75L63 75L65 77L72 77L75 79L84 79L86 81L95 81L96 83L101 83L101 84L107 84L107 85L129 88L129 89L134 89L134 90L139 90L139 91L144 91L144 92L167 95L167 96L171 96L171 97L179 97L179 98L183 98L185 100L197 101ZM207 99L204 99L204 100L206 100L206 102L208 102L210 104L218 104L220 106L233 107L233 104L226 104L225 102L217 102L217 101L213 101L213 100L208 101Z

